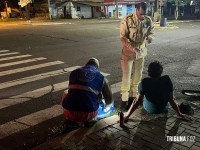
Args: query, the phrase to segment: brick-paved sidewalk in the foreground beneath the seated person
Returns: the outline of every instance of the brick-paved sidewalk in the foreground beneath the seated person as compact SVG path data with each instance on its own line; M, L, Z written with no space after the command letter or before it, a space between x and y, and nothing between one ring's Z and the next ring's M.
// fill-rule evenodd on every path
M193 121L186 122L177 119L172 108L167 114L150 115L140 107L123 128L119 125L119 116L114 115L91 128L74 130L33 150L199 150L199 108L194 108L192 117Z

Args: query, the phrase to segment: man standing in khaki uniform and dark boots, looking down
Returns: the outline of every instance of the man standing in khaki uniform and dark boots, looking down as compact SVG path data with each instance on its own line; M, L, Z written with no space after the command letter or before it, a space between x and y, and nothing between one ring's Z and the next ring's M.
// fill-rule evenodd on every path
M147 4L136 5L136 12L125 16L120 25L122 85L121 109L128 110L138 93L142 78L144 58L147 55L146 41L152 42L153 23L146 16ZM131 77L132 74L132 77Z

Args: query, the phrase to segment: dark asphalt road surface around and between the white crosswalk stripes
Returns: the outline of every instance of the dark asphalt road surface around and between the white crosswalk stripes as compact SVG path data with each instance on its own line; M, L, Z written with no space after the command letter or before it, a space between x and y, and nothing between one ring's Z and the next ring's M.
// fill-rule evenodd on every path
M177 99L198 100L198 98L184 96L180 91L182 89L200 90L200 22L173 25L178 28L155 29L155 40L148 45L143 76L147 76L147 65L151 61L159 60L164 65L164 74L170 75L173 80ZM19 52L19 54L2 55L14 52ZM66 82L67 84L69 74L60 73L40 79L37 79L35 75L81 66L90 57L96 57L100 60L101 71L110 74L107 78L113 85L121 81L120 54L119 22L0 26L0 65L25 60L25 58L7 59L17 55L42 58L39 61L0 67L0 104L2 105L0 105L0 130L9 128L10 126L5 126L13 120L15 123L21 123L16 125L16 128L22 129L11 134L13 129L10 127L11 131L5 131L10 132L7 136L0 133L0 138L3 139L1 140L2 148L9 148L10 141L18 143L16 146L25 148L41 143L49 133L49 128L63 120L63 117L58 115L38 124L28 124L24 121L26 120L24 116L59 104L59 97L64 88L55 92L46 92L42 96L37 96L38 91L30 96L30 92L37 89L41 91L43 87L56 83ZM6 60L1 61L4 58ZM50 65L49 62L52 64L56 62L56 64ZM44 63L46 66L41 67L40 65ZM31 68L34 65L40 67ZM21 68L21 71L18 68ZM33 79L33 81L20 83L25 80L24 78ZM27 92L29 92L28 96L21 96L21 102L16 102L19 100L19 97L15 97L16 95ZM28 100L23 101L22 98L28 98ZM6 100L7 102L4 103ZM9 104L8 100L11 100L12 104ZM114 94L114 100L117 106L120 101L119 92ZM37 122L37 118L35 121ZM21 127L22 124L25 127ZM41 138L38 138L39 136Z

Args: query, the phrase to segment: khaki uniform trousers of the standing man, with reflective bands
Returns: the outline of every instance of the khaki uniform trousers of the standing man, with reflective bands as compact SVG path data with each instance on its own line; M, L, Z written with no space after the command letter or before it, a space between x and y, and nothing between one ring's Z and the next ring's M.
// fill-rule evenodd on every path
M136 59L122 54L122 101L128 101L129 97L136 97L138 93L138 84L142 78L144 67L144 57Z

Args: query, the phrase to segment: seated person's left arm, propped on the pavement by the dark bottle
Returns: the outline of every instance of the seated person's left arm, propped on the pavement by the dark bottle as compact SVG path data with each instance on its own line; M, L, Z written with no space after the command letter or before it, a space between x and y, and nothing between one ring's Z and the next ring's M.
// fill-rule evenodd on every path
M133 101L131 107L128 112L125 114L124 121L127 122L131 114L138 108L140 103L143 101L144 95L139 94L138 97Z

